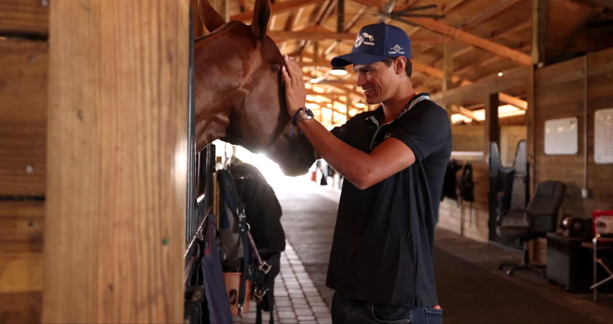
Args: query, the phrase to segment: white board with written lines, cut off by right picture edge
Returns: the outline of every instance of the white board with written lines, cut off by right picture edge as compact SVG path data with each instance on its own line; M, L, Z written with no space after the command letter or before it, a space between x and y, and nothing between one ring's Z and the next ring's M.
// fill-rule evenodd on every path
M594 162L613 163L613 108L594 113Z

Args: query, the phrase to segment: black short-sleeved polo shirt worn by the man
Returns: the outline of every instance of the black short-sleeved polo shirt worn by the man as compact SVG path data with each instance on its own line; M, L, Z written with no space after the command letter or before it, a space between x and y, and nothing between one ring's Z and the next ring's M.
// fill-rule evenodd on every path
M383 108L360 113L332 133L370 153L389 137L406 144L416 162L360 190L343 182L326 285L348 298L398 306L438 304L434 228L451 156L446 111L427 94L411 99L392 122Z

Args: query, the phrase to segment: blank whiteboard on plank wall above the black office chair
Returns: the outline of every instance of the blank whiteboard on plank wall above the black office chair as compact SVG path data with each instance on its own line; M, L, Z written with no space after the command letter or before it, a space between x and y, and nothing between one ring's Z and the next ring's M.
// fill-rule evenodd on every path
M573 155L579 152L576 117L545 121L545 154Z

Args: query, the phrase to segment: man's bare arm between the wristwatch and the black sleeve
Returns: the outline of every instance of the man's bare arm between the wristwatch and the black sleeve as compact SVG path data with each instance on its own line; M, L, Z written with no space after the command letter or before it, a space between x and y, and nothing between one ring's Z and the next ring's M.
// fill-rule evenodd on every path
M300 122L300 129L321 157L359 189L366 189L415 162L413 151L400 140L389 138L370 154L352 148L315 119Z

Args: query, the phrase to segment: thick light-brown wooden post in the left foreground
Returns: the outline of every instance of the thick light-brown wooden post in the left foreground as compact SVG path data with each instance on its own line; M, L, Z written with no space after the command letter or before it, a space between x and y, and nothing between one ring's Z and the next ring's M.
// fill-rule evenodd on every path
M184 322L189 1L54 0L43 323Z

